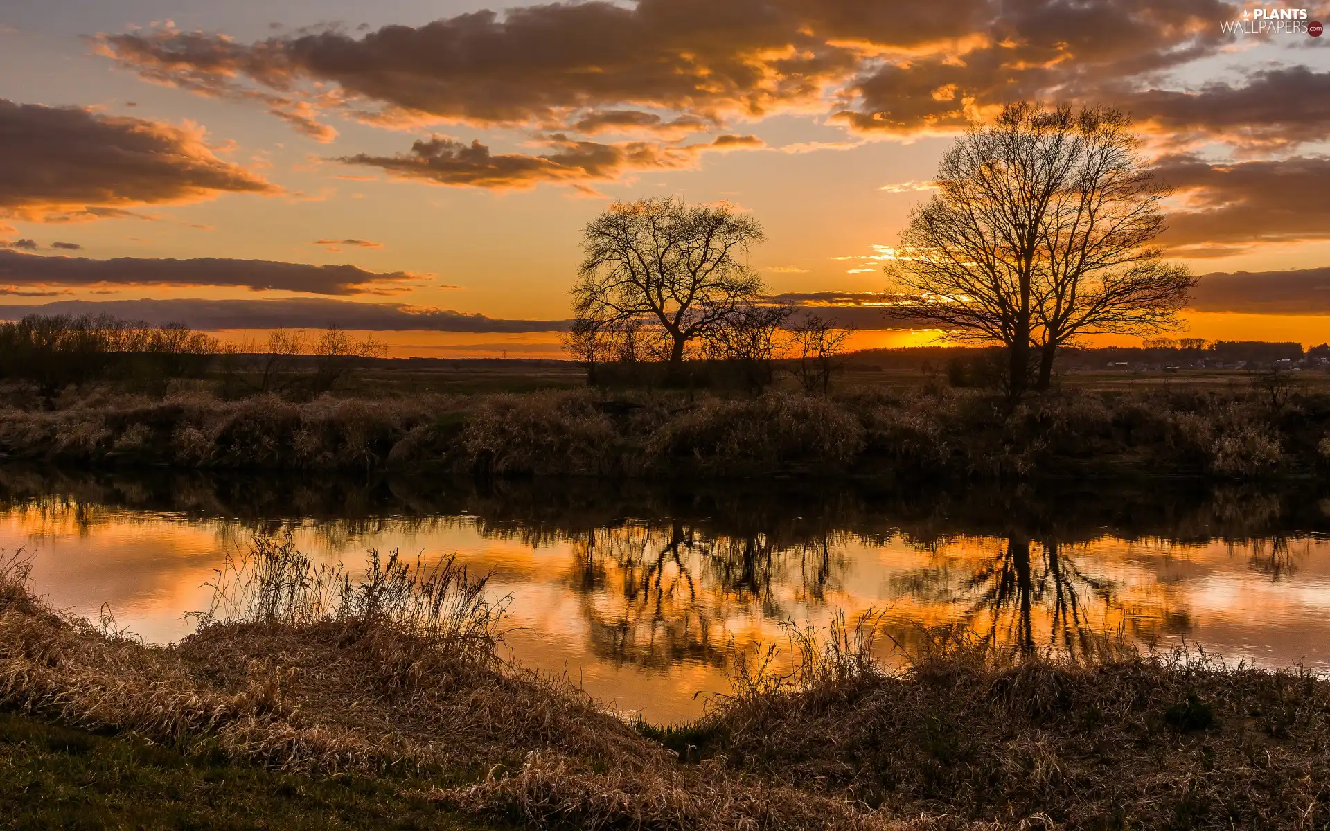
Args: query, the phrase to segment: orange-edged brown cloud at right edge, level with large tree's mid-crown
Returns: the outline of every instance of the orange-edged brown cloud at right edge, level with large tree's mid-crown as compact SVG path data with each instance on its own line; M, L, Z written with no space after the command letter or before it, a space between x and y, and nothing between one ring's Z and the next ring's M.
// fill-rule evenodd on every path
M1253 246L1330 238L1330 158L1213 164L1196 156L1158 161L1181 206L1161 242L1174 255L1226 257Z

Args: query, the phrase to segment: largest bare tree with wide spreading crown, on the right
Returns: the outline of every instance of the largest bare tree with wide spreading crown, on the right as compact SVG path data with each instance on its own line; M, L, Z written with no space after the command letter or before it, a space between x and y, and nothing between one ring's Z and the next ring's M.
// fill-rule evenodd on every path
M1112 109L1023 102L956 140L886 267L906 298L892 312L1000 343L1012 396L1047 386L1079 335L1174 327L1192 278L1149 245L1168 190L1129 126Z

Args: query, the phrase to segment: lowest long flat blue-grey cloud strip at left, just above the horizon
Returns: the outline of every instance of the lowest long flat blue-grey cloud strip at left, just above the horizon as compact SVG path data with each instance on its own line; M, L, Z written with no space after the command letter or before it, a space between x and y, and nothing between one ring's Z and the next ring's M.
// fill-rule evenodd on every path
M153 324L185 323L193 328L342 328L368 331L438 332L552 332L568 328L568 320L504 320L447 308L402 303L358 303L323 298L259 300L59 300L41 306L0 306L0 319L27 314L109 314Z

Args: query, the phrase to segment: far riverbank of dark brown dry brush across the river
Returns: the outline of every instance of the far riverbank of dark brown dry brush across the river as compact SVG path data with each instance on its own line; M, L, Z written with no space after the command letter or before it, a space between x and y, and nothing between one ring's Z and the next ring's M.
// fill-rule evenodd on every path
M1035 480L1330 473L1330 395L924 386L755 399L591 390L387 399L88 394L0 411L0 453L88 467L511 476Z

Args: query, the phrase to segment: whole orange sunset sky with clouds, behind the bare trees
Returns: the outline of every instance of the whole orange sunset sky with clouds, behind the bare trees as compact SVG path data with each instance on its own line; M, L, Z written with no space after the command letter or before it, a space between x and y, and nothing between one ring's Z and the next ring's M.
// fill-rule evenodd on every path
M1136 118L1176 189L1161 243L1205 275L1189 335L1310 346L1330 338L1317 20L1330 7L5 0L0 316L557 356L583 226L662 194L751 211L771 294L857 303L954 137L1040 100ZM859 347L935 336L846 315Z

